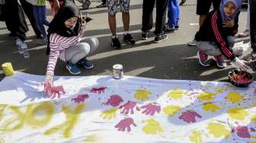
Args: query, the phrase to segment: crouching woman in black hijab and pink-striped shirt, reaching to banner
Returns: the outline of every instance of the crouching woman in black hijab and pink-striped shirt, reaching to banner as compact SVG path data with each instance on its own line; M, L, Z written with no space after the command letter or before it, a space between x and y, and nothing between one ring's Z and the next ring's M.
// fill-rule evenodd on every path
M66 68L72 75L80 74L78 65L87 69L94 67L86 57L98 48L98 39L90 38L86 43L81 42L86 21L85 18L79 17L79 14L79 8L73 2L66 0L50 22L47 46L47 53L50 55L45 83L53 84L57 59L66 62Z

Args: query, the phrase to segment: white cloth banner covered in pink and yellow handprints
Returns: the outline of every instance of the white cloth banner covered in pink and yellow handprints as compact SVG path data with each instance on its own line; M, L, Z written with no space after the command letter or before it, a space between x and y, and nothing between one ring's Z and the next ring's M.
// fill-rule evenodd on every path
M225 82L110 76L44 77L18 72L0 82L0 142L256 141L256 94Z

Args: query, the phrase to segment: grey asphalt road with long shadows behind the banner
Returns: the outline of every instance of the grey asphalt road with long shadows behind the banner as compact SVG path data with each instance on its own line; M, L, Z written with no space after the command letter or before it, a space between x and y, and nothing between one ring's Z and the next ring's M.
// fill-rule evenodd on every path
M82 70L82 76L88 75L111 75L112 66L120 63L123 65L124 75L133 75L147 78L184 79L200 81L226 81L227 74L232 66L224 69L216 68L216 64L209 68L199 65L197 59L197 48L187 46L187 42L193 39L198 30L198 16L196 15L196 0L187 1L181 6L181 29L175 33L168 34L168 40L162 43L153 43L153 33L150 33L148 40L141 40L142 23L142 0L132 0L130 4L130 32L137 40L135 45L123 43L122 49L110 47L110 30L107 21L107 8L95 8L100 4L98 1L91 3L91 8L83 14L90 14L94 19L87 25L85 37L98 37L100 47L88 57L95 64L91 70ZM81 5L81 4L78 4ZM81 8L81 6L80 6ZM245 14L247 9L242 9L239 18L239 31L245 27ZM50 10L47 11L47 19L53 17ZM155 17L155 11L154 11ZM29 22L28 22L29 24ZM24 59L19 55L14 40L8 37L8 30L4 22L0 22L0 64L11 62L15 71L22 71L34 75L45 75L48 57L46 46L39 46L39 40L34 36L30 27L27 33L26 43L29 46L30 58ZM153 30L152 30L153 31ZM117 32L122 40L123 23L121 14L117 14ZM248 38L237 39L237 41ZM245 56L250 51L246 51ZM255 75L255 62L251 62L250 72ZM59 61L56 65L55 75L70 75L65 68L65 63ZM1 71L0 71L1 72ZM0 75L0 80L4 77Z

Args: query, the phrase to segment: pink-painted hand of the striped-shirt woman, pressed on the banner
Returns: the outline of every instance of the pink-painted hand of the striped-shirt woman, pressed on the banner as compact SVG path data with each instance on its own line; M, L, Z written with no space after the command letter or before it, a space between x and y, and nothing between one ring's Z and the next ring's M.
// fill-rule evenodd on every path
M58 95L58 98L60 97L60 94L65 94L64 88L62 85L60 86L52 86L49 82L46 82L44 85L44 92L46 93L46 97L48 98L55 98L56 95Z

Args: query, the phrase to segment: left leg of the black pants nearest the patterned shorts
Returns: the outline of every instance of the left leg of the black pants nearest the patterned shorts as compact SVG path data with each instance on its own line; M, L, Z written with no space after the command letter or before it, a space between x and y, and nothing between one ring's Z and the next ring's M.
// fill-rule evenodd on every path
M142 32L149 32L153 27L153 9L155 0L143 0L142 5Z

